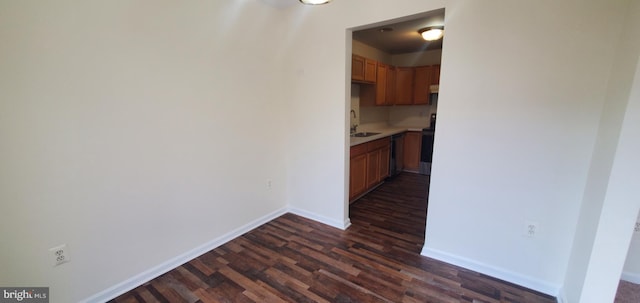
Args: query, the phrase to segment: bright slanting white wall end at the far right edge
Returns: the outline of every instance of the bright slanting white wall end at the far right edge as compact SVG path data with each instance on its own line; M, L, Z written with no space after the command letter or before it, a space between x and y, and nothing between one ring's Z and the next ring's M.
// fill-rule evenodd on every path
M611 302L615 298L617 279L603 277L620 277L640 210L640 65L636 66L580 302ZM638 256L629 257L637 260Z

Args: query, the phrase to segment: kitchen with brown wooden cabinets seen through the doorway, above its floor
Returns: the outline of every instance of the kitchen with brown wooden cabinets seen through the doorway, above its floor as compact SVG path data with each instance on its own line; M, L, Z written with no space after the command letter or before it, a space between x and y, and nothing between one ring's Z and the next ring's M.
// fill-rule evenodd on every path
M405 171L430 175L444 9L353 32L349 202ZM426 185L428 186L428 185Z

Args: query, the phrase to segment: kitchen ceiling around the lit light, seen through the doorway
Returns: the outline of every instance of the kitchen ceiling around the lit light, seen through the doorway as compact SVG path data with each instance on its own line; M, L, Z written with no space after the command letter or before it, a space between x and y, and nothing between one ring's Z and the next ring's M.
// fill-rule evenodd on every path
M412 16L409 20L392 20L354 31L353 40L393 55L442 49L443 39L429 42L418 33L421 28L436 25L444 25L444 9ZM445 37L446 30L445 27Z

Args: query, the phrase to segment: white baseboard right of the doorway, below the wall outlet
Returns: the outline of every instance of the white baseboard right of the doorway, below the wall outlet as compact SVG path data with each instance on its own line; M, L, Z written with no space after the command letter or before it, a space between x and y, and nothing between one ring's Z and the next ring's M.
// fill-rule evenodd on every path
M443 251L427 248L422 248L421 255L429 258L433 258L442 262L453 264L456 266L464 267L469 270L473 270L494 278L505 280L526 288L539 291L541 293L554 296L560 299L561 287L559 285L551 284L545 281L534 279L525 275L521 275L509 270L498 268L489 264L477 262L475 260L467 259L464 257L449 254Z

